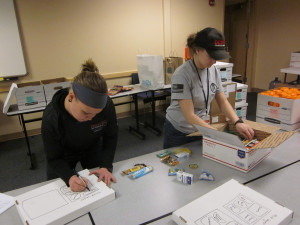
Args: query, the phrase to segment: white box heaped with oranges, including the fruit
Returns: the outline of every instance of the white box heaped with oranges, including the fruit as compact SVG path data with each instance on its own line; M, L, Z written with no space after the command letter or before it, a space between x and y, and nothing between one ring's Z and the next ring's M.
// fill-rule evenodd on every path
M279 87L257 96L256 121L277 125L283 130L300 127L300 90Z

